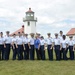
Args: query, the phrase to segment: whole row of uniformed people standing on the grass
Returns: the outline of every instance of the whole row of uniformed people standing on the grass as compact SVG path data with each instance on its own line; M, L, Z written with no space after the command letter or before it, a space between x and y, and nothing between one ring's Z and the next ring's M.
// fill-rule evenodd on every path
M0 60L9 60L11 50L13 60L34 60L35 55L37 60L45 60L46 50L51 61L54 59L54 52L57 61L68 60L68 51L69 59L74 60L75 40L73 36L69 36L68 40L62 31L59 34L55 33L55 38L51 37L51 33L47 33L47 39L38 33L36 35L31 33L30 36L28 38L28 34L24 32L10 36L7 31L6 36L3 37L3 32L0 32Z

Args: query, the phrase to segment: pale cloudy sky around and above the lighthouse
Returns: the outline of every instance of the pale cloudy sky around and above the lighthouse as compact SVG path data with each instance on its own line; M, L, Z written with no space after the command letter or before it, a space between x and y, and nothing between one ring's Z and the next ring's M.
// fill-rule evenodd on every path
M38 19L36 31L44 36L60 30L66 34L75 27L75 0L0 0L0 31L21 28L29 8Z

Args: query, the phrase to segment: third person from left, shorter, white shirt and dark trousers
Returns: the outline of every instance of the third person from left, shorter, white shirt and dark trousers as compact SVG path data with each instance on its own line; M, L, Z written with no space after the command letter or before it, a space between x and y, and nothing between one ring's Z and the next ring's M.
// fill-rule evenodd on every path
M17 55L16 43L17 43L16 34L13 34L12 38L13 60L16 60Z

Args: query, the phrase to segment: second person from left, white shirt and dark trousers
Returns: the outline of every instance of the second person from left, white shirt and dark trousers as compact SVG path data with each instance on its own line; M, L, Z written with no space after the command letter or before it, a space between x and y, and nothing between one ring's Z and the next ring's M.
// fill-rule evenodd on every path
M9 31L6 32L6 37L4 38L5 46L5 60L9 60L10 56L10 46L11 46L11 37L9 36Z

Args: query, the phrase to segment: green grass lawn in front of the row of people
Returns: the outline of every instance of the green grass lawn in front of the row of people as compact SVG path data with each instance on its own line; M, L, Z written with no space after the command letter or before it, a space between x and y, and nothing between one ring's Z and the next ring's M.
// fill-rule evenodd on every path
M9 61L0 61L0 75L75 75L75 60L13 61L10 58Z

